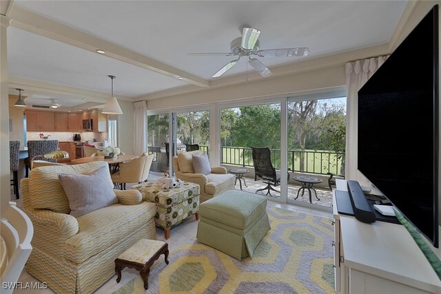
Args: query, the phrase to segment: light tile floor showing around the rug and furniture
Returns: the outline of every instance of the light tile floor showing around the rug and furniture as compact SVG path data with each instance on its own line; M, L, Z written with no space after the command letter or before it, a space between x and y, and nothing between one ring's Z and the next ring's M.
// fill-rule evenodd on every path
M154 178L158 178L160 176L162 176L162 175L153 174L152 176L149 177L149 180L150 179L154 180ZM127 184L127 189L129 186L131 186L131 185ZM17 201L17 200L15 200L14 195L11 195L11 200ZM18 200L17 202L18 202L17 206L20 206L20 203L19 203L20 201ZM308 209L305 207L298 207L298 206L292 205L292 204L283 204L283 203L271 201L271 200L268 201L268 206L289 209L292 211L300 211L302 213L308 213L308 214L315 215L315 216L332 218L332 213L328 213L325 211L318 211L315 209ZM185 244L188 242L192 242L192 240L196 240L197 227L198 227L198 222L196 221L196 219L194 217L192 217L192 218L189 218L188 220L185 220L184 222L181 222L181 224L178 224L178 226L172 228L172 231L170 233L170 238L167 240L167 243L169 244L170 252L173 252L174 250L176 250L179 246L181 246L181 244ZM156 240L165 241L164 240L164 231L162 229L156 228ZM125 283L132 280L134 277L137 277L138 275L139 275L139 273L137 271L134 271L133 269L124 269L120 283L118 283L118 284L116 283L116 276L114 276L109 281L107 281L105 284L103 284L103 286L101 286L101 288L99 288L95 293L96 294L110 294L113 291L116 291L118 288L120 288ZM22 282L22 283L39 282L39 280L32 277L32 275L28 274L28 272L25 269L23 269L23 272L21 273L18 282ZM30 291L28 289L14 290L14 294L27 294L27 293L30 293ZM43 294L43 293L46 294L46 293L54 293L54 292L51 291L50 288L47 288L47 289L32 290L32 294L34 294L34 293L35 294Z

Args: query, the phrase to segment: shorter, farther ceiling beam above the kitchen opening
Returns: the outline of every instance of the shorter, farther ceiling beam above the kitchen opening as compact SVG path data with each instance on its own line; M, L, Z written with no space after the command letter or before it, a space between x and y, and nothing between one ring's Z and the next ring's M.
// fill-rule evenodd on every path
M66 85L47 83L43 81L34 81L26 78L15 78L13 76L10 76L8 78L8 87L12 89L20 88L28 93L33 93L33 94L55 94L55 95L58 94L58 95L87 98L88 101L96 102L96 103L105 103L107 101L107 98L110 97L110 93L106 93L106 92L81 89ZM118 95L116 96L116 98L118 98L119 100L134 101L134 98L127 96Z

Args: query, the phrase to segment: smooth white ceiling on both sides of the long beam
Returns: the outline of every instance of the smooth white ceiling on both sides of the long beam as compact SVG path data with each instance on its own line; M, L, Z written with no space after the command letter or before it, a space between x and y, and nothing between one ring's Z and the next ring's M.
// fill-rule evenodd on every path
M262 31L260 48L309 47L308 59L387 43L407 1L21 1L14 6L88 32L205 80L232 56L229 43L249 25ZM105 50L105 48L102 48ZM305 59L305 58L302 58ZM260 58L271 66L300 58ZM141 96L184 81L60 43L8 29L10 76ZM225 76L245 73L241 60ZM248 69L250 70L250 69Z

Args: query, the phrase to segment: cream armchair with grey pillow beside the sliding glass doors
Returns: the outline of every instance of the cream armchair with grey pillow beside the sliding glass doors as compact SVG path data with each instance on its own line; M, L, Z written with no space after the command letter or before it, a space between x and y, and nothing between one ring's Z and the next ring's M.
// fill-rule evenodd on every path
M212 167L212 173L207 175L194 174L192 154L202 154L202 151L183 152L174 156L173 167L177 178L185 182L194 182L201 187L201 202L234 189L235 177L227 174L225 167Z

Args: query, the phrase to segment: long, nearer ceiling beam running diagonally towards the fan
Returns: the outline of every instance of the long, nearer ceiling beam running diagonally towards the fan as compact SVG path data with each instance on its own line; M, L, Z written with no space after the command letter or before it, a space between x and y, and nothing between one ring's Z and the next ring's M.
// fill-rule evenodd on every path
M17 6L13 6L10 12L11 26L19 28L21 30L26 30L34 34L39 34L56 41L61 41L75 47L89 50L96 53L96 50L101 49L105 51L105 56L123 61L125 63L130 63L139 67L143 67L147 70L152 70L160 74L165 74L166 76L171 76L172 78L178 78L182 76L183 81L197 85L198 87L209 87L209 81L179 70L176 67L161 63L143 54L139 54L127 48L123 48L120 45L116 45L104 39L100 39L92 34L83 32L82 30L77 30L71 28L68 25L53 21L46 17L42 17L39 14L24 10ZM96 53L98 54L98 53Z

